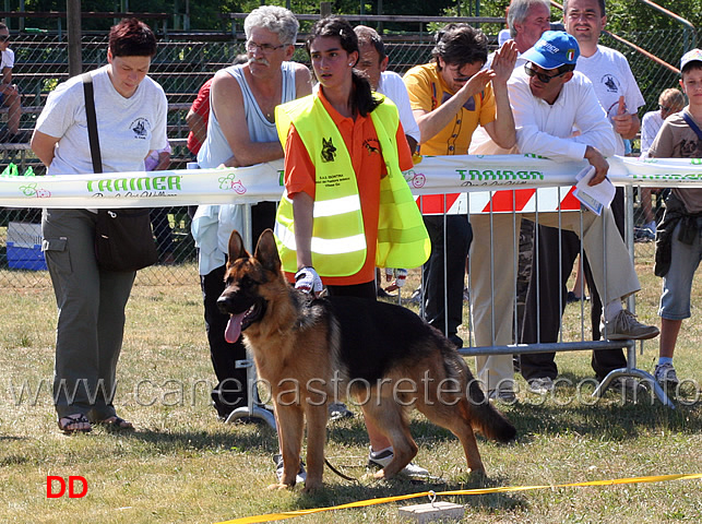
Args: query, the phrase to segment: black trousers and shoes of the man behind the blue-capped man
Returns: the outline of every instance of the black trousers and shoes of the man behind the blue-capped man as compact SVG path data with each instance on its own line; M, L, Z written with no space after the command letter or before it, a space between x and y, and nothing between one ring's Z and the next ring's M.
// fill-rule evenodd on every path
M615 222L622 238L624 236L624 201L622 188L617 189L617 194L611 203ZM558 258L560 237L561 258ZM536 255L538 252L538 259ZM547 226L539 226L538 239L534 250L532 281L526 296L524 318L520 333L520 343L530 344L540 342L558 342L560 319L563 313L559 308L559 299L562 308L566 307L568 297L568 277L573 271L573 263L580 253L580 238L572 231L558 231ZM559 267L561 281L558 282ZM593 341L602 336L599 321L603 312L603 305L599 294L590 269L587 258L583 259L585 282L590 288L591 296L591 324ZM537 278L538 275L538 278ZM537 293L538 305L537 305ZM537 315L540 322L537 326ZM540 333L539 333L540 331ZM540 334L540 338L539 335ZM539 353L520 356L521 372L524 379L558 377L558 367L555 361L555 353ZM614 369L627 367L627 358L622 349L598 349L593 352L592 367L598 380L604 379Z

